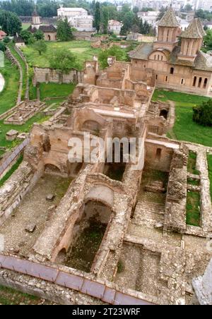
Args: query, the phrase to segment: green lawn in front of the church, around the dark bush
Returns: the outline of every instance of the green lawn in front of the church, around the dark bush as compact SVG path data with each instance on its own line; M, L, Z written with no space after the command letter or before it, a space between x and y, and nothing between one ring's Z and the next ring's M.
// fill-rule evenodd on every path
M208 97L164 90L155 90L153 101L156 100L161 100L163 102L172 100L175 102L175 126L167 134L167 136L177 140L187 140L192 143L199 143L212 147L212 128L201 126L192 120L192 107L194 107L196 104L207 101Z

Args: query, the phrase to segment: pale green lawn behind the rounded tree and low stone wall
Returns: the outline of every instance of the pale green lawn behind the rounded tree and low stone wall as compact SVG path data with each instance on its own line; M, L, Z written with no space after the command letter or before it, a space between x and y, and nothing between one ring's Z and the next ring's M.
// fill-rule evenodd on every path
M52 58L52 52L56 49L69 49L76 55L76 59L81 69L83 69L86 60L93 59L93 56L100 52L100 49L93 49L90 47L88 41L69 41L69 42L46 42L47 52L41 56L32 46L22 48L23 53L28 60L30 66L39 66L41 68L49 67L49 61Z

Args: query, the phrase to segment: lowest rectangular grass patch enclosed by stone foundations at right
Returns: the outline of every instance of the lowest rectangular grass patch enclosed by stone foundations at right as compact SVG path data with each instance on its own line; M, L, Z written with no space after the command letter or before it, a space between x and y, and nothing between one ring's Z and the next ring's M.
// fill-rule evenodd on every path
M200 193L187 192L187 224L200 226Z

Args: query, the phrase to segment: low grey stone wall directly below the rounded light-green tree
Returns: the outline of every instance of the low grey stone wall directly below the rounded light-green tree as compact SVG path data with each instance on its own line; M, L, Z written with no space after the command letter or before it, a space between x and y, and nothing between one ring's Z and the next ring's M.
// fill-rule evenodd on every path
M81 83L83 80L83 71L72 69L68 74L61 74L53 68L34 67L33 84L37 83Z

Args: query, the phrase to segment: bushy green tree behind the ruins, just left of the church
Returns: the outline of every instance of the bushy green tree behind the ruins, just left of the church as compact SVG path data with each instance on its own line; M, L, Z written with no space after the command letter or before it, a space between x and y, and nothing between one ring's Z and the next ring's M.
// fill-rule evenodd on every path
M115 56L117 61L126 61L127 59L126 52L120 47L117 47L117 45L113 45L110 49L101 50L99 54L99 61L102 68L107 68L107 59L109 56Z

